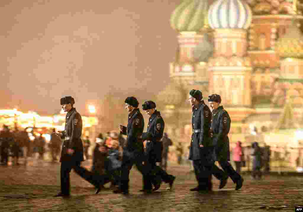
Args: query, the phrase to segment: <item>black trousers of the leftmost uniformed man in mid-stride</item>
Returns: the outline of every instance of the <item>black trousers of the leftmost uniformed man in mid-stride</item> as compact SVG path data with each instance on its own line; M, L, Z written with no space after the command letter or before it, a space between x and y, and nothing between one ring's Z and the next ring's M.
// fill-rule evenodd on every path
M60 170L60 178L61 178L61 192L63 194L70 193L70 177L69 173L72 169L83 179L87 180L89 183L94 185L95 187L99 187L100 185L108 182L107 176L96 175L85 168L80 167L79 161L62 161L61 170Z

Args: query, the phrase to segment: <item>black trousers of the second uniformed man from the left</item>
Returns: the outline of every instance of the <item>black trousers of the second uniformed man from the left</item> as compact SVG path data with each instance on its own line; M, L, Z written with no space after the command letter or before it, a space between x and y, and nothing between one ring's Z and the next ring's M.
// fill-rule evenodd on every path
M128 190L129 172L132 166L135 164L138 170L143 175L143 189L151 189L151 183L149 183L149 171L145 165L142 164L144 161L143 151L123 151L123 160L121 166L121 177L120 177L120 189Z

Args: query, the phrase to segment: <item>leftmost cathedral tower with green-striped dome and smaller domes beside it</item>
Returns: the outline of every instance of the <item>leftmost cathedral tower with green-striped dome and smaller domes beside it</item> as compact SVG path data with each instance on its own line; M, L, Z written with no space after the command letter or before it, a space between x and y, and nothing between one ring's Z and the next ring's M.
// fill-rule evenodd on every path
M186 0L171 15L171 27L178 32L175 62L169 65L171 83L157 96L164 106L162 115L170 136L182 141L180 135L191 126L191 107L186 101L191 89L208 95L207 62L212 54L207 21L208 1ZM188 139L184 139L188 141Z

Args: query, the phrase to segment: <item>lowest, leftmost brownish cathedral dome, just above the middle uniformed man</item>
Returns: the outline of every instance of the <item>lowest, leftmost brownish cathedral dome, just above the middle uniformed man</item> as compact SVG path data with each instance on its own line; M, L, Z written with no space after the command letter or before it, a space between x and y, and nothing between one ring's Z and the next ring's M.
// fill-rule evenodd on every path
M164 105L179 105L185 100L185 95L178 85L170 83L158 94L157 100Z

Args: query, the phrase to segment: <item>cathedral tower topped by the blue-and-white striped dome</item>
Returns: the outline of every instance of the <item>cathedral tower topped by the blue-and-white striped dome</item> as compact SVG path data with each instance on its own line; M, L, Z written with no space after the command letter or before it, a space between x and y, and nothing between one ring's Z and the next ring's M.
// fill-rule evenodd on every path
M221 95L234 123L252 113L251 62L247 57L251 19L250 7L241 0L218 0L208 11L215 46L208 62L209 92Z

